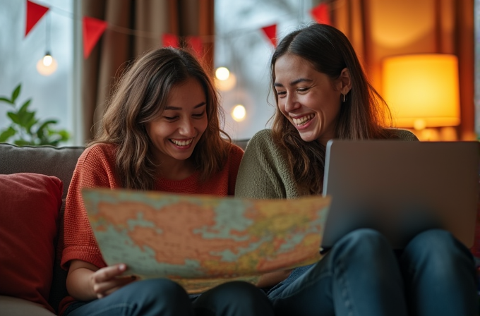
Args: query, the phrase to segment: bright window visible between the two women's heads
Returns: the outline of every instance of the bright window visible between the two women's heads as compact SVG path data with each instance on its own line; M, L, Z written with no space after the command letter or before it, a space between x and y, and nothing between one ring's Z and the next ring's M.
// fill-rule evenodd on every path
M262 28L276 24L277 37L281 39L288 32L312 23L309 13L312 2L215 0L215 68L228 68L234 78L229 79L234 81L229 89L219 85L226 112L225 130L232 138L251 138L267 126L275 113L275 100L270 92L270 58L274 47ZM237 104L246 110L243 121L234 121L230 115Z

